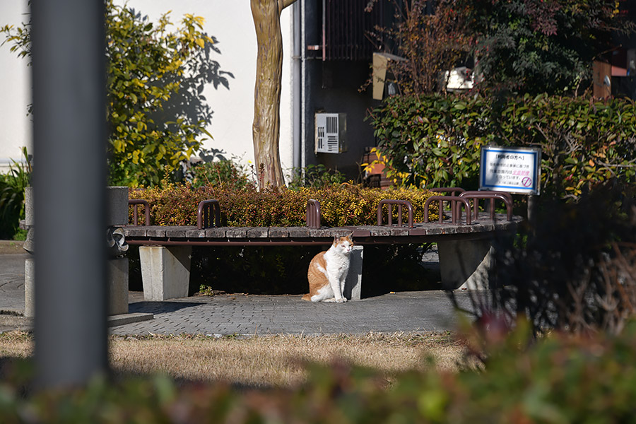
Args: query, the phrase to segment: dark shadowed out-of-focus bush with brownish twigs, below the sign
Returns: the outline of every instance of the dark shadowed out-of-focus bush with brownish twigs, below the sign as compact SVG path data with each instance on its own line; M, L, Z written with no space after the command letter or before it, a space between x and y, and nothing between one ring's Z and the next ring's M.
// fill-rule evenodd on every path
M478 320L535 334L618 334L636 314L636 190L601 184L577 202L543 201L532 225L495 244L490 290L472 293Z

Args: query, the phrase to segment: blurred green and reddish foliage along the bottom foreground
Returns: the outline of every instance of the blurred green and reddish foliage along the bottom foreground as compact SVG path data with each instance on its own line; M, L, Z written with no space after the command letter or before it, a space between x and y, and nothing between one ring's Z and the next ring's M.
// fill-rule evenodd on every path
M28 366L5 363L3 423L632 423L636 326L620 336L551 334L531 343L523 323L487 345L483 369L406 371L387 383L343 360L309 363L295 389L233 389L169 377L95 379L80 389L29 393ZM214 343L213 340L210 343ZM25 368L27 371L25 371Z

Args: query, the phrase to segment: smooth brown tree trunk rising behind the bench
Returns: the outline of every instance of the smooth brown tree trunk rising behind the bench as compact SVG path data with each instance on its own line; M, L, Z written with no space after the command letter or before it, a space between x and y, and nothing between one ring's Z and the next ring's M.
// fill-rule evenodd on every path
M295 0L250 0L258 55L254 88L254 163L259 187L285 185L278 139L281 127L283 35L281 11Z

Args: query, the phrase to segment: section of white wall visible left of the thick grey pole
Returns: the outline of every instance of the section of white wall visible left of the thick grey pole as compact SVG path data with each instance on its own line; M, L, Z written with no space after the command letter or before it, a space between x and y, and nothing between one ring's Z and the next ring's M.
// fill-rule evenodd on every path
M0 26L28 22L27 0L0 0ZM4 35L0 35L0 44ZM0 47L0 172L8 170L11 159L22 160L22 148L31 149L31 121L27 107L31 102L28 60L9 51L7 43Z

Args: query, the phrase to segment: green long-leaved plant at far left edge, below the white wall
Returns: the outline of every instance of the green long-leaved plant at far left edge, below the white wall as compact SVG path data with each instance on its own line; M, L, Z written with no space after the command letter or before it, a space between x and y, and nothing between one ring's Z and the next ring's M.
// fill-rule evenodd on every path
M27 148L22 154L25 165L14 160L8 173L0 174L0 240L24 236L18 225L25 218L24 189L30 186L32 168Z

